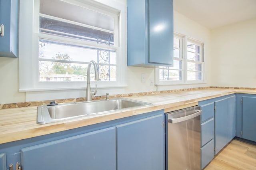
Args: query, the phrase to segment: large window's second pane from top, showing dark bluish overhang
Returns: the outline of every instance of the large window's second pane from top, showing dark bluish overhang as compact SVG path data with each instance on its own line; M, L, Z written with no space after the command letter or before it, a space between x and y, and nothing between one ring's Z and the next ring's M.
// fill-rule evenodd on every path
M40 32L114 45L114 34L112 33L44 17L40 17Z

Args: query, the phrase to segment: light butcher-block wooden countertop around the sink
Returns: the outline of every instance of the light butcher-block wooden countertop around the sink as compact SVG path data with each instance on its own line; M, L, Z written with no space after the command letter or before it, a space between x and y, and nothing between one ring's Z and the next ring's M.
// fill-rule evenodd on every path
M36 123L37 107L22 107L0 110L0 144L31 138L44 134L60 132L72 128L84 127L96 123L111 121L133 115L148 113L164 109L165 112L184 109L198 105L198 101L220 97L233 93L256 94L256 90L240 89L203 89L195 91L180 91L172 93L159 93L147 96L127 97L138 101L152 103L152 106L137 109L124 109L112 113L81 117L67 121L59 121L39 125Z

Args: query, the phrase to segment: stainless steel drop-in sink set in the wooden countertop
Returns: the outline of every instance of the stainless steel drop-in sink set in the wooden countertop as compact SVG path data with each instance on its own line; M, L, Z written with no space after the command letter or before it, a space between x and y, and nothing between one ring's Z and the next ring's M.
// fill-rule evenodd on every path
M125 98L80 103L64 103L55 106L42 105L37 107L36 122L38 124L52 123L77 117L88 117L116 110L148 105L152 104Z

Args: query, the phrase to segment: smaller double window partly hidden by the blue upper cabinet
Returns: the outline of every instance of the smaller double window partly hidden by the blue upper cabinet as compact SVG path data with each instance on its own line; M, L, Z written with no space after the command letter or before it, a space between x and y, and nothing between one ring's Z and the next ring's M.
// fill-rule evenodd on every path
M174 33L174 67L156 69L156 84L203 83L203 48L203 43Z

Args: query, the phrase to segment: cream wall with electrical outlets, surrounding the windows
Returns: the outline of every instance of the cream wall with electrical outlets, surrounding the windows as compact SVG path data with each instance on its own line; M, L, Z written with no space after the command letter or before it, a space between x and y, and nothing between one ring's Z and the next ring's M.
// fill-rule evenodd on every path
M116 1L122 4L126 4L126 0ZM138 93L164 89L182 89L190 87L210 86L210 65L208 64L210 63L210 31L175 11L174 31L205 43L207 83L200 85L172 85L157 88L156 86L150 86L150 79L155 79L155 70L153 68L128 67L128 86L124 87L122 90L124 93ZM144 83L141 82L142 73L145 74L146 80ZM0 104L26 101L26 93L19 92L19 59L0 57L0 78ZM112 92L110 94L114 93ZM44 93L40 94L40 96L42 95L44 95Z

